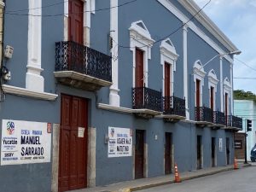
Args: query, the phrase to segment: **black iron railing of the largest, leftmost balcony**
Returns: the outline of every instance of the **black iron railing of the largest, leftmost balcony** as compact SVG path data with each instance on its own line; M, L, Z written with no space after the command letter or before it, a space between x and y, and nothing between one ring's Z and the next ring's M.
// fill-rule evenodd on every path
M55 71L74 71L112 82L111 57L73 41L55 43Z

